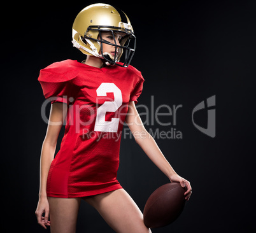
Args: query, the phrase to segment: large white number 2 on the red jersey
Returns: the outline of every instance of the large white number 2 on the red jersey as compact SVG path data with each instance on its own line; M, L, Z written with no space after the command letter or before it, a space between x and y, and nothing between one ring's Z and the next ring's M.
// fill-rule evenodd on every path
M115 112L122 105L122 92L114 83L101 83L96 90L97 96L106 96L107 92L113 92L114 101L106 101L97 109L94 131L117 132L119 118L111 118L110 122L105 121L107 111Z

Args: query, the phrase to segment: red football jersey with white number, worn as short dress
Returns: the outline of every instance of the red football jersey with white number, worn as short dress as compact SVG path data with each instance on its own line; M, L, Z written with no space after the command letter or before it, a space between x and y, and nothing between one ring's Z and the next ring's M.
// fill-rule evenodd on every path
M60 150L50 166L49 197L85 197L122 188L117 181L120 139L130 101L143 88L132 66L101 69L64 60L41 69L46 99L69 105Z

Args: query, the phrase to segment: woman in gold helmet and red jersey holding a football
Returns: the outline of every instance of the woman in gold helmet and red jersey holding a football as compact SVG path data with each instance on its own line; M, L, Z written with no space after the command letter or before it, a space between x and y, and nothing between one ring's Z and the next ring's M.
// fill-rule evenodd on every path
M87 55L85 61L55 62L42 69L38 78L46 99L52 97L41 151L38 223L45 229L50 225L53 233L75 232L83 199L116 232L151 232L138 206L117 181L124 122L169 180L187 186L187 200L191 187L162 155L136 110L144 79L129 66L135 48L129 18L108 4L87 6L73 24L73 45ZM60 151L53 159L65 118Z

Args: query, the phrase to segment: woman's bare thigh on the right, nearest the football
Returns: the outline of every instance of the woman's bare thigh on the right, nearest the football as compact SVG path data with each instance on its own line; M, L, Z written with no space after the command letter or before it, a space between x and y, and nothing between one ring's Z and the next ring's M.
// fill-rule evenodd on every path
M99 211L115 232L151 232L143 223L140 209L122 188L94 197L85 197L84 200Z

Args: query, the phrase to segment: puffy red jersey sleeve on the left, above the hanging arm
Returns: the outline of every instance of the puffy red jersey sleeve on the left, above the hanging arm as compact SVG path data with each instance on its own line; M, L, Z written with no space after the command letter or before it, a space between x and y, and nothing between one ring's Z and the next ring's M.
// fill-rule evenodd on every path
M65 102L70 104L74 100L72 80L75 75L72 73L54 73L50 69L41 69L38 81L43 89L43 95L51 102Z

